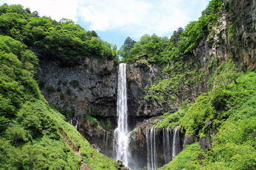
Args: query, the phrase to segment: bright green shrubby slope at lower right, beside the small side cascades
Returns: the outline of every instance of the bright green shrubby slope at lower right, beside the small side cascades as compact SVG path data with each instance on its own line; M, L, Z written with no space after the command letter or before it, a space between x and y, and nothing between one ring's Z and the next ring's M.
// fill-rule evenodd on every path
M225 66L225 67L224 67ZM229 62L221 64L218 76L230 77ZM221 70L221 71L220 71ZM220 81L218 87L196 98L196 102L176 113L166 113L157 127L181 126L182 131L204 138L209 136L210 128L218 133L214 136L212 148L202 153L194 151L193 144L182 151L164 167L167 169L255 169L255 123L256 123L256 73L236 73L229 84ZM234 73L232 73L234 75ZM206 125L211 121L212 125ZM198 146L197 146L198 147ZM194 148L195 149L195 148ZM193 153L193 154L191 154ZM198 154L205 159L198 164ZM193 156L191 156L193 155ZM182 163L184 162L184 163Z

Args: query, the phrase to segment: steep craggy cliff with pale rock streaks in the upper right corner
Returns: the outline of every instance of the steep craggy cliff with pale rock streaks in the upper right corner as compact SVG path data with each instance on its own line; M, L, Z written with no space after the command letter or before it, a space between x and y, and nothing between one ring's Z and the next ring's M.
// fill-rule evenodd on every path
M255 69L255 0L223 0L221 17L194 55L207 67L215 57L219 62L233 59L239 71Z

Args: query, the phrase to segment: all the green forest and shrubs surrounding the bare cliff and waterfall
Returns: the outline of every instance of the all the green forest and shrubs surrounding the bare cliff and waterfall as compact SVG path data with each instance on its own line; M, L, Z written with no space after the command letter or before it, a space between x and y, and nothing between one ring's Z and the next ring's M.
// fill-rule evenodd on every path
M178 111L156 117L154 127L179 126L196 138L160 169L256 169L256 72L241 66L233 49L237 23L228 25L227 59L211 54L204 66L195 57L201 41L216 41L223 11L234 17L230 1L212 0L197 21L170 38L128 37L118 50L67 18L57 22L21 5L0 6L0 169L124 169L97 152L38 87L40 61L75 67L86 58L161 67L161 77L144 89L148 103L178 103L182 86L200 87L195 103L184 101ZM211 148L200 148L202 138L211 138Z

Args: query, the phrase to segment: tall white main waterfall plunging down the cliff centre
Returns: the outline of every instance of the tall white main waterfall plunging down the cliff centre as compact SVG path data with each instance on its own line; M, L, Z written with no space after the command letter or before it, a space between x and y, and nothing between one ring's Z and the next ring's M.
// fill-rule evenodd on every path
M126 94L126 64L119 64L118 94L116 103L118 116L117 128L114 132L113 150L116 160L121 160L125 166L129 164L129 131L127 125L127 94Z

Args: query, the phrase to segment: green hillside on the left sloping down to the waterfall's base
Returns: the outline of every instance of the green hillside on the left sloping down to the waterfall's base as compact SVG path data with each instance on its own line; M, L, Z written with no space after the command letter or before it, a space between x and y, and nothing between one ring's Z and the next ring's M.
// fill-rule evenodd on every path
M10 22L3 17L7 15L2 13L0 22ZM45 101L33 80L38 58L26 45L0 35L0 59L0 169L118 167Z

